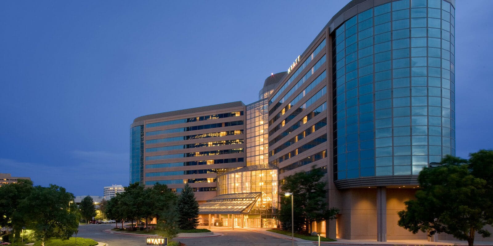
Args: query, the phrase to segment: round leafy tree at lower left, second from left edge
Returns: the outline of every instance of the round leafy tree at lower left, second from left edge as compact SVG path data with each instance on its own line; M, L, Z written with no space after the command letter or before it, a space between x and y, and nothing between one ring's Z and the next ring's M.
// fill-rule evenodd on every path
M80 215L70 209L72 193L65 188L50 184L49 187L35 186L31 194L22 200L19 211L27 223L27 229L34 230L34 236L41 246L49 238L69 239L79 226Z

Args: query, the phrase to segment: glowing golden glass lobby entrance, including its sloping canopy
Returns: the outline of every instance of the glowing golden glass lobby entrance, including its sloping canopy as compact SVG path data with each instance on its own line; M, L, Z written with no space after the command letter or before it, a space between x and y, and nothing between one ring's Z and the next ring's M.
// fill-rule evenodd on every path
M277 167L269 164L246 166L218 176L219 195L199 207L201 224L277 228L277 178Z

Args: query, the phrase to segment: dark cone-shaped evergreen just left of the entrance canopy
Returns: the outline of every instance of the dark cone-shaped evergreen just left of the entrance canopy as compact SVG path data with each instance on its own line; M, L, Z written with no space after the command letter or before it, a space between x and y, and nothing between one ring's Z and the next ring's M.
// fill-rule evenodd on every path
M195 200L192 187L185 184L183 191L176 202L176 213L178 213L178 226L182 230L195 229L199 225L199 203Z

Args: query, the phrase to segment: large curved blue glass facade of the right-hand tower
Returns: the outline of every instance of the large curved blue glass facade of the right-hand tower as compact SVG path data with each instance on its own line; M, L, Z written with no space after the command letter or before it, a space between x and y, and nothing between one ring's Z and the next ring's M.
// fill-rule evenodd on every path
M455 9L399 0L333 32L334 180L418 174L455 154Z

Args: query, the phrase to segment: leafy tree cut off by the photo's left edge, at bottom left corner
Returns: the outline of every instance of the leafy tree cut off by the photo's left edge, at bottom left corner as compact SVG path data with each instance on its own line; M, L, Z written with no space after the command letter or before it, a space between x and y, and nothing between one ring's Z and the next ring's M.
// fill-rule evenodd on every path
M18 234L26 226L19 204L33 191L33 182L18 180L17 183L4 184L0 187L0 227L12 227L14 234ZM2 216L3 215L3 216Z

